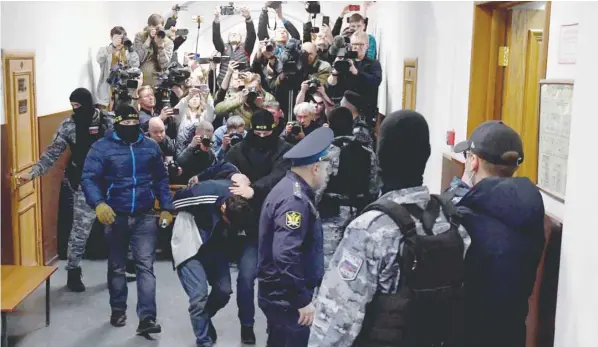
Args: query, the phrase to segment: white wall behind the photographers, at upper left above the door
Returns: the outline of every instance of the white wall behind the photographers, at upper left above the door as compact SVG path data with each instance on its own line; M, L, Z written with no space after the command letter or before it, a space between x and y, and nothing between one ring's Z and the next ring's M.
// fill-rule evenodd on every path
M37 115L68 110L69 95L85 87L95 92L99 66L95 55L101 46L110 43L110 29L123 26L131 39L143 29L152 13L166 15L175 1L122 2L1 2L1 47L6 50L35 51ZM181 2L178 2L181 3ZM201 15L205 23L200 30L199 51L209 56L213 51L213 13L216 6L226 2L188 2L188 10L180 12L178 28L188 28L190 35L180 52L195 51L197 26L192 15ZM241 4L241 3L239 3ZM324 2L322 12L334 21L345 3ZM263 2L244 2L250 8L256 30ZM307 12L299 2L283 4L285 16L302 33ZM321 19L319 19L321 21ZM222 17L222 32L233 27L244 29L241 16ZM239 25L240 24L240 25ZM179 56L182 60L182 56ZM4 117L0 114L0 123Z

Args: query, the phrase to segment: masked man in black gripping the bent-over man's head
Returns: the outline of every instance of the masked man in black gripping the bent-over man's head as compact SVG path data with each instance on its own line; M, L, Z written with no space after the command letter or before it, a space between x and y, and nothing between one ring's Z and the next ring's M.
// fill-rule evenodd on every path
M245 140L233 146L225 161L232 163L251 181L249 187L233 188L233 193L250 197L255 211L255 220L246 230L247 236L241 247L237 262L237 305L241 320L241 340L255 344L253 324L255 316L254 284L257 277L257 232L262 203L270 190L280 181L290 167L283 155L291 145L273 134L274 116L264 109L258 109L251 118L252 129ZM249 192L238 190L249 190Z

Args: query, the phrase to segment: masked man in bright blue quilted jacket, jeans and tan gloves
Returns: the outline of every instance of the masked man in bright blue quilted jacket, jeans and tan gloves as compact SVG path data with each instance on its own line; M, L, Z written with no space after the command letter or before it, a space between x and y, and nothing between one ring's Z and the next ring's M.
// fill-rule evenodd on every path
M137 275L138 333L159 333L154 260L158 229L153 207L160 201L162 226L172 222L172 198L160 146L143 136L139 114L129 105L115 111L114 131L95 142L81 180L87 203L106 225L110 324L126 324L125 259L129 245Z

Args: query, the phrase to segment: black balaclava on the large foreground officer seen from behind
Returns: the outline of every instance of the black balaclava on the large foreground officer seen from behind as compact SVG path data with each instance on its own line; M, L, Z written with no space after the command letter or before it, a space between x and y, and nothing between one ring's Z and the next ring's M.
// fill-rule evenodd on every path
M430 157L428 123L415 111L397 111L380 125L378 165L382 193L423 184Z

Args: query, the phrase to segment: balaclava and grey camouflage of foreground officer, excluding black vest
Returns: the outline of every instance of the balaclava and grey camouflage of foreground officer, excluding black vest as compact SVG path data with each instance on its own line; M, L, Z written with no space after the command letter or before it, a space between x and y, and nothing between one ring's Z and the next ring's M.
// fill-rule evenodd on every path
M430 200L428 188L422 185L430 156L425 118L415 111L398 111L386 117L377 154L384 194L380 199L424 208ZM422 224L414 221L417 234L425 235ZM450 228L440 213L432 232L437 235ZM470 240L462 227L459 235L467 249ZM371 312L366 312L366 307L375 295L394 294L400 289L402 239L397 224L379 211L368 211L347 226L315 300L310 347L400 346L397 341L385 341L384 336L371 343L360 334L362 328L368 329L364 321Z

